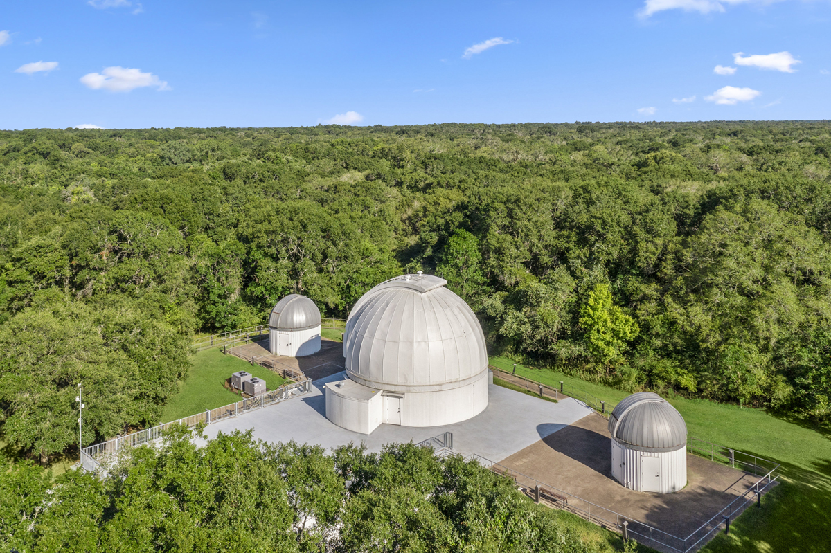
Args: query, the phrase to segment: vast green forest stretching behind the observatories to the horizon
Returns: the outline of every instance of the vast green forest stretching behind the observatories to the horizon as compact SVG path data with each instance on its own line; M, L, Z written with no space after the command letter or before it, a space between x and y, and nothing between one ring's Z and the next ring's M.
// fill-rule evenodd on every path
M491 354L831 412L831 123L0 132L0 423L156 423L194 332L423 270Z

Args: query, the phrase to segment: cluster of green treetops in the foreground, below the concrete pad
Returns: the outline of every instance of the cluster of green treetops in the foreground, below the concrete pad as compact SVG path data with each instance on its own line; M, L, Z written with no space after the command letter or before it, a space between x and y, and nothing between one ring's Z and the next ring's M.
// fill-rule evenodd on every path
M620 543L584 536L478 462L412 444L327 453L234 433L197 448L180 428L104 476L51 482L2 458L0 473L2 551L605 553Z

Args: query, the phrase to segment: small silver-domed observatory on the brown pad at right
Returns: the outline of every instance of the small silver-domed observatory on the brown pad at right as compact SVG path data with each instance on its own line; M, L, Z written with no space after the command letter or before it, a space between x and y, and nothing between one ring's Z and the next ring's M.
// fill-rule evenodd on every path
M632 394L609 417L612 476L636 492L671 493L686 486L686 423L666 399Z

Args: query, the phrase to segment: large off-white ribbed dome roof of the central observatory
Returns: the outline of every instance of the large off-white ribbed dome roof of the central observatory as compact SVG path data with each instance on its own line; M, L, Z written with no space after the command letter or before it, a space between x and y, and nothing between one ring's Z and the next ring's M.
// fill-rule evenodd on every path
M404 275L361 296L344 331L349 377L388 391L433 391L486 371L482 327L445 284L438 276Z

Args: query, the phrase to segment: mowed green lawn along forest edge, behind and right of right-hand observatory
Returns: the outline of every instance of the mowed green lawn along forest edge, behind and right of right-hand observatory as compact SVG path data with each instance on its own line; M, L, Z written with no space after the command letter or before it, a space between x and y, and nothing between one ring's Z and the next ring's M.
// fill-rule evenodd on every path
M514 361L491 364L513 369ZM584 389L609 404L626 392L548 369L517 365L517 374L542 384ZM779 553L831 551L831 432L810 423L784 420L762 409L740 409L699 399L670 397L691 437L781 463L782 483L765 495L763 507L749 507L701 551ZM684 536L686 537L686 536Z

